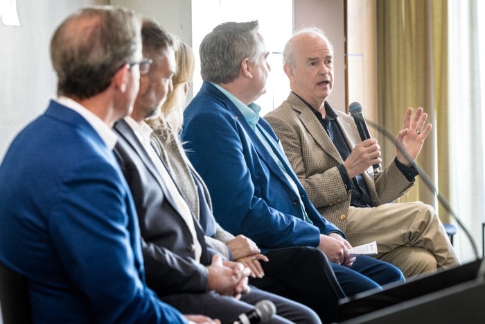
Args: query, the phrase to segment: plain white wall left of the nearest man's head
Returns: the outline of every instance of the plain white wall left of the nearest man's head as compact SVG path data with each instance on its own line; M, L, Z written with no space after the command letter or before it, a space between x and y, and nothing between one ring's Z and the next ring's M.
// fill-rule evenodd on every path
M55 95L49 58L56 26L71 12L100 0L17 1L20 26L0 22L0 160L13 137L42 113Z

